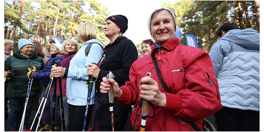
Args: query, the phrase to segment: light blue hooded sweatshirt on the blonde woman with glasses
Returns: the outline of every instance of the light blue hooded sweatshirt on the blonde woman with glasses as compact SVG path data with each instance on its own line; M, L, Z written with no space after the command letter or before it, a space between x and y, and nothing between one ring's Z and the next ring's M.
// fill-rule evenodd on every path
M87 102L87 66L89 63L98 63L103 55L103 50L100 45L93 44L91 46L89 54L85 55L85 48L87 45L91 43L99 43L101 42L97 39L91 39L85 42L80 50L76 53L76 55L70 61L69 71L67 74L66 80L66 96L67 102L76 106L86 105ZM91 94L91 99L89 104L94 104L94 93L95 93L95 83L93 85L93 91Z

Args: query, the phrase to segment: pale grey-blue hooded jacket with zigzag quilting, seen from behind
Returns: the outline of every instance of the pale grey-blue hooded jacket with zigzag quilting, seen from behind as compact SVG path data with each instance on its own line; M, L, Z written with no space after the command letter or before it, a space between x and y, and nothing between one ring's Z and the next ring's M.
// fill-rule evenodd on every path
M259 111L259 43L254 29L234 29L211 48L223 106Z

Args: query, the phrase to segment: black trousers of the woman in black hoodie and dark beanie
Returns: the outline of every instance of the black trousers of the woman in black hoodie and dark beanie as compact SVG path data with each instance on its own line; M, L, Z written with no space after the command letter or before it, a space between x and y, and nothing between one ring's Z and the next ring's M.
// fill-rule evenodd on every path
M123 131L131 106L124 106L123 104L120 104L118 101L114 100L113 109L114 131ZM99 128L97 128L98 131L112 131L109 103L100 105L96 115L96 122L99 125Z

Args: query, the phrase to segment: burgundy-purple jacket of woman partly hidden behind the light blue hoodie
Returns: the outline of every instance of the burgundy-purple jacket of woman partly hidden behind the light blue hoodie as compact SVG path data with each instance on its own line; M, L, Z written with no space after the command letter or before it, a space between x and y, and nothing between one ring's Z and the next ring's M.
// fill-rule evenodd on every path
M60 65L63 68L65 67L65 68L69 69L70 61L72 60L72 57L75 54L76 54L76 52L66 54L65 58L60 62ZM62 85L62 96L66 96L66 78L61 78L61 85ZM58 95L58 96L60 95L59 79L57 79L56 95Z

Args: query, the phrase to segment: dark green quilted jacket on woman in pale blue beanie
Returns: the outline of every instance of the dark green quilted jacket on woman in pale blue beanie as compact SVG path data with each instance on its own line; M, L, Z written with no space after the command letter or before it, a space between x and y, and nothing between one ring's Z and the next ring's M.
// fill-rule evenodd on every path
M36 66L37 70L42 70L44 67L42 58L37 56L35 51L28 59L21 55L19 51L6 59L5 71L10 70L12 72L6 90L6 97L26 97L28 89L27 68L31 68L33 70L33 65ZM40 81L33 79L30 96L38 94L39 87Z

